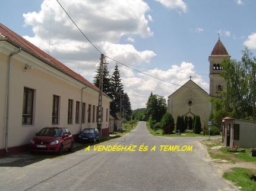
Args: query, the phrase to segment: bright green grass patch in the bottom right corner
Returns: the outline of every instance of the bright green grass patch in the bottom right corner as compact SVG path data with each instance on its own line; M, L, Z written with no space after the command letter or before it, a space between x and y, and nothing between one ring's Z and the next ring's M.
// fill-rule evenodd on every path
M241 186L242 190L256 190L256 181L251 180L254 172L251 169L233 168L231 172L226 172L223 177L235 182L236 186Z

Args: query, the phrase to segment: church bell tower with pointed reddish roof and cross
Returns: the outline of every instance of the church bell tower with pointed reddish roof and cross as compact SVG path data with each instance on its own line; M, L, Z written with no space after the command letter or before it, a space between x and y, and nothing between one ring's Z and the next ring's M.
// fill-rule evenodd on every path
M222 90L227 90L226 81L220 76L220 72L223 70L222 61L225 58L230 58L230 55L227 53L227 50L219 37L219 40L215 44L213 51L211 51L211 55L208 58L210 77L209 94L211 97L220 98L220 92Z

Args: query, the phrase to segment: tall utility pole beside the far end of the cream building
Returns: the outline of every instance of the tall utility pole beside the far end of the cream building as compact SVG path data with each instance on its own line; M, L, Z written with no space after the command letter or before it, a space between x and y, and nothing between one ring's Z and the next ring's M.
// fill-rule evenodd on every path
M103 91L103 60L104 54L100 54L100 79L99 79L99 99L98 99L98 120L97 129L102 137L102 91Z

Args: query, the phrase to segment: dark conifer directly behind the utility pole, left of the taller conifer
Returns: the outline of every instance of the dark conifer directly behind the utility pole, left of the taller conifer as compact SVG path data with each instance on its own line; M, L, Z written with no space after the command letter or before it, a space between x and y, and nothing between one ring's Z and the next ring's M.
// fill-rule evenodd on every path
M103 92L106 93L110 98L113 98L111 83L110 83L110 75L108 66L106 64L103 65ZM94 76L93 84L99 88L100 83L100 67L97 69L96 75Z

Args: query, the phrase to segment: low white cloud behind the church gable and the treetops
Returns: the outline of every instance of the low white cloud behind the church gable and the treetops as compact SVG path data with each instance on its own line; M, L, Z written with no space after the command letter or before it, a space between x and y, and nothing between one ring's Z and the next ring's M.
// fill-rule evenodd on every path
M166 71L159 70L157 68L154 70L150 69L144 71L144 73L147 73L148 75L166 80L170 83L162 82L143 75L142 73L134 73L134 76L132 77L122 76L122 83L124 84L124 88L127 91L129 98L131 99L132 109L145 107L150 92L167 98L167 96L181 87L178 85L184 85L184 83L189 80L189 76L192 76L192 80L201 88L208 90L209 85L207 82L204 82L202 76L193 74L195 73L194 68L195 67L192 63L182 62L179 66L172 65L170 69L167 69ZM124 75L124 73L121 74Z

